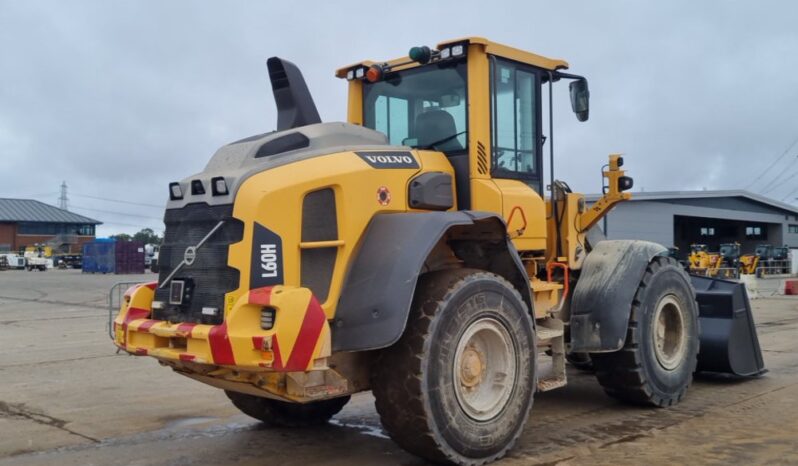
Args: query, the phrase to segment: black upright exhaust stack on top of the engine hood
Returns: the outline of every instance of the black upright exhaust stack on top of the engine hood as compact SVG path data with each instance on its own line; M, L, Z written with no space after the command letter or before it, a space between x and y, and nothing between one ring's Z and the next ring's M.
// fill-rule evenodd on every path
M302 72L288 60L271 57L266 61L277 104L277 131L321 123Z

